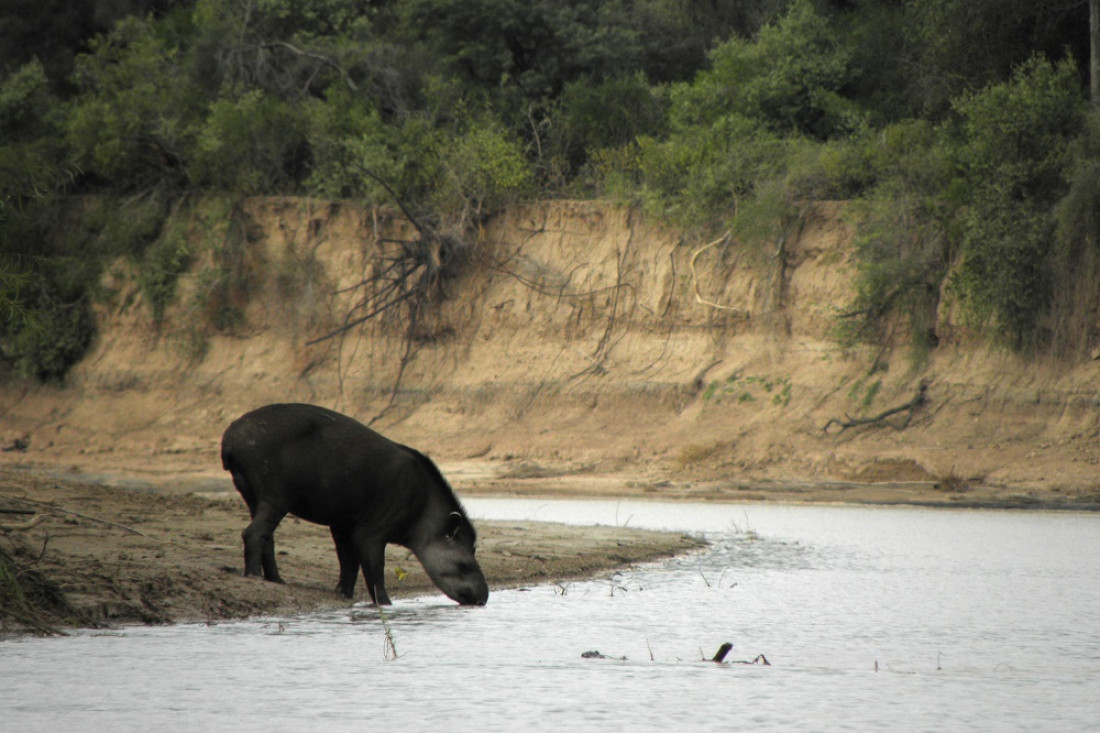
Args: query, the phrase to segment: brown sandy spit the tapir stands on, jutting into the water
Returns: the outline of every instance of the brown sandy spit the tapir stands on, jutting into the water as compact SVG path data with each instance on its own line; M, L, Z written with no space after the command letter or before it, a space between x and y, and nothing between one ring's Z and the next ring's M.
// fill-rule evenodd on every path
M248 513L228 492L157 493L16 470L0 475L0 508L48 515L33 528L0 534L0 553L34 575L32 590L64 597L44 603L43 612L6 595L0 631L216 622L351 603L333 592L337 559L328 530L294 517L275 535L286 584L244 578L240 532ZM477 557L492 590L598 576L702 546L697 538L626 527L480 522L477 529ZM388 549L386 577L395 598L439 592L400 547ZM10 590L6 582L0 577L0 592ZM365 597L362 579L359 586L356 602Z

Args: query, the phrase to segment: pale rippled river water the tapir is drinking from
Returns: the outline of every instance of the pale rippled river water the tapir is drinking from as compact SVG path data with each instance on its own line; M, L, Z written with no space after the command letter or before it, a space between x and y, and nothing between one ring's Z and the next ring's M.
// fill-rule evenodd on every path
M0 643L0 729L1100 730L1100 516L466 504L711 547L481 609L428 597ZM770 666L702 660L727 641L727 661Z

